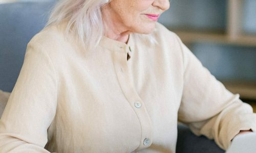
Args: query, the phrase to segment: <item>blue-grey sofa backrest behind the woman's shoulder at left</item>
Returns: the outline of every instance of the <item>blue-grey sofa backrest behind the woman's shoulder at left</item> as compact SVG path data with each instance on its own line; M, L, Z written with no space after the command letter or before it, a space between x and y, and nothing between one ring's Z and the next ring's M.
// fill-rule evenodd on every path
M0 5L0 89L12 91L24 61L27 43L45 27L55 2Z

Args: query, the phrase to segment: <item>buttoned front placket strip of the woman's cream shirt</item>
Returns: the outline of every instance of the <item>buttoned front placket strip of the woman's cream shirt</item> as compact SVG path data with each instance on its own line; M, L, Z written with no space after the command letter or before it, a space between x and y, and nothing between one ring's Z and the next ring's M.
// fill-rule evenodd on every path
M125 50L125 52L124 52ZM134 89L131 82L130 73L126 61L127 50L115 50L114 52L114 66L117 74L117 78L120 84L120 87L123 91L124 96L127 101L130 103L132 109L137 114L137 117L141 123L141 140L140 145L136 150L146 148L152 143L152 124L150 116L147 113L146 108L144 107L143 100L139 97L137 91ZM122 71L120 70L120 67ZM139 134L139 133L138 133ZM147 141L147 145L144 145L145 139L151 140Z

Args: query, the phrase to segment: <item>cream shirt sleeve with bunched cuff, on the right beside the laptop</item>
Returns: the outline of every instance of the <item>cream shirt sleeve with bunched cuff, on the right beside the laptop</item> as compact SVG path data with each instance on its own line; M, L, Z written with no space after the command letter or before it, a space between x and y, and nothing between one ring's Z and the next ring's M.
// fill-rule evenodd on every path
M223 149L240 130L256 131L256 116L250 105L229 92L180 41L184 87L179 121L196 135L205 135Z

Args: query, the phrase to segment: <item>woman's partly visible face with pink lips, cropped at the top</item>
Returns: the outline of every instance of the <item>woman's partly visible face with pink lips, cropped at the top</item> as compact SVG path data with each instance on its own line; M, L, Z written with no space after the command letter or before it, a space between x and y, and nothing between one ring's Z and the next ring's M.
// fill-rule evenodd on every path
M168 0L110 0L110 16L105 18L111 19L118 29L149 34L160 14L168 8Z

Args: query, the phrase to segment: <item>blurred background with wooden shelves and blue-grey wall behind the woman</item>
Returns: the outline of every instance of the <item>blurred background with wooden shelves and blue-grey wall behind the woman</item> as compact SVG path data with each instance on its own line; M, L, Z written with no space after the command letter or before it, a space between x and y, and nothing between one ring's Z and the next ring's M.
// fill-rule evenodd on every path
M0 0L0 5L34 1L54 0ZM256 111L256 0L172 0L159 22Z

